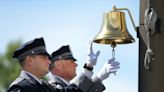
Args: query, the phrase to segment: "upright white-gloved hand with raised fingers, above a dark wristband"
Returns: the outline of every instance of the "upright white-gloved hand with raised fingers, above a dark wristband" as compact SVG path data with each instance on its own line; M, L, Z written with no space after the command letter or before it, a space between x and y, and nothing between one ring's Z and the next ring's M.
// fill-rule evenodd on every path
M100 51L97 51L96 53L93 52L93 49L92 49L92 42L90 41L89 42L89 51L88 51L88 55L87 55L87 61L86 61L86 64L88 66L95 66L96 63L97 63L97 58L100 54Z

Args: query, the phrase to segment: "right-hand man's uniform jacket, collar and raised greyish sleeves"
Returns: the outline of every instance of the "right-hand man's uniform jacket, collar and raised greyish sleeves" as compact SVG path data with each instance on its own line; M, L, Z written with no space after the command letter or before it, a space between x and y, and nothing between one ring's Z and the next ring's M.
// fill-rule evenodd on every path
M49 83L52 86L55 85L55 87L62 89L63 87L70 85L65 81L63 78L54 75L52 79L50 79ZM102 84L101 80L99 80L97 77L90 80L83 74L76 76L73 84L78 86L83 92L102 92L103 90L105 90L105 87Z

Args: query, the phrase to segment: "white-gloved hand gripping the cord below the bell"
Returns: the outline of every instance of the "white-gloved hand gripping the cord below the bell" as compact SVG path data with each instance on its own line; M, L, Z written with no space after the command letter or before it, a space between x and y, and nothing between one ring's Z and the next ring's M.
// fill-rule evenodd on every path
M109 74L111 73L115 73L117 71L117 69L120 68L120 63L115 61L114 58L108 60L104 66L102 67L102 69L100 70L100 72L97 74L97 77L100 80L104 80L106 78L109 77Z

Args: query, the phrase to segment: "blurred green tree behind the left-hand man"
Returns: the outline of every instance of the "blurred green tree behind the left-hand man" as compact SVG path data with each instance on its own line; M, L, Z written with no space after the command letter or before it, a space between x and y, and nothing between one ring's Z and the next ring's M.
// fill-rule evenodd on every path
M6 51L0 54L0 92L4 91L19 76L20 66L17 60L12 58L12 55L20 44L21 40L11 41L7 45Z

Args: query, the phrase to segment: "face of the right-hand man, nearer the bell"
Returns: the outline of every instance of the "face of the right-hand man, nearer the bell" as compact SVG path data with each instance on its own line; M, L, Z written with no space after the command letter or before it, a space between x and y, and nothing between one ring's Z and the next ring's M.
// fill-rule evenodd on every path
M60 60L60 65L61 68L60 70L62 71L62 77L71 80L76 76L76 67L77 64L74 60Z

